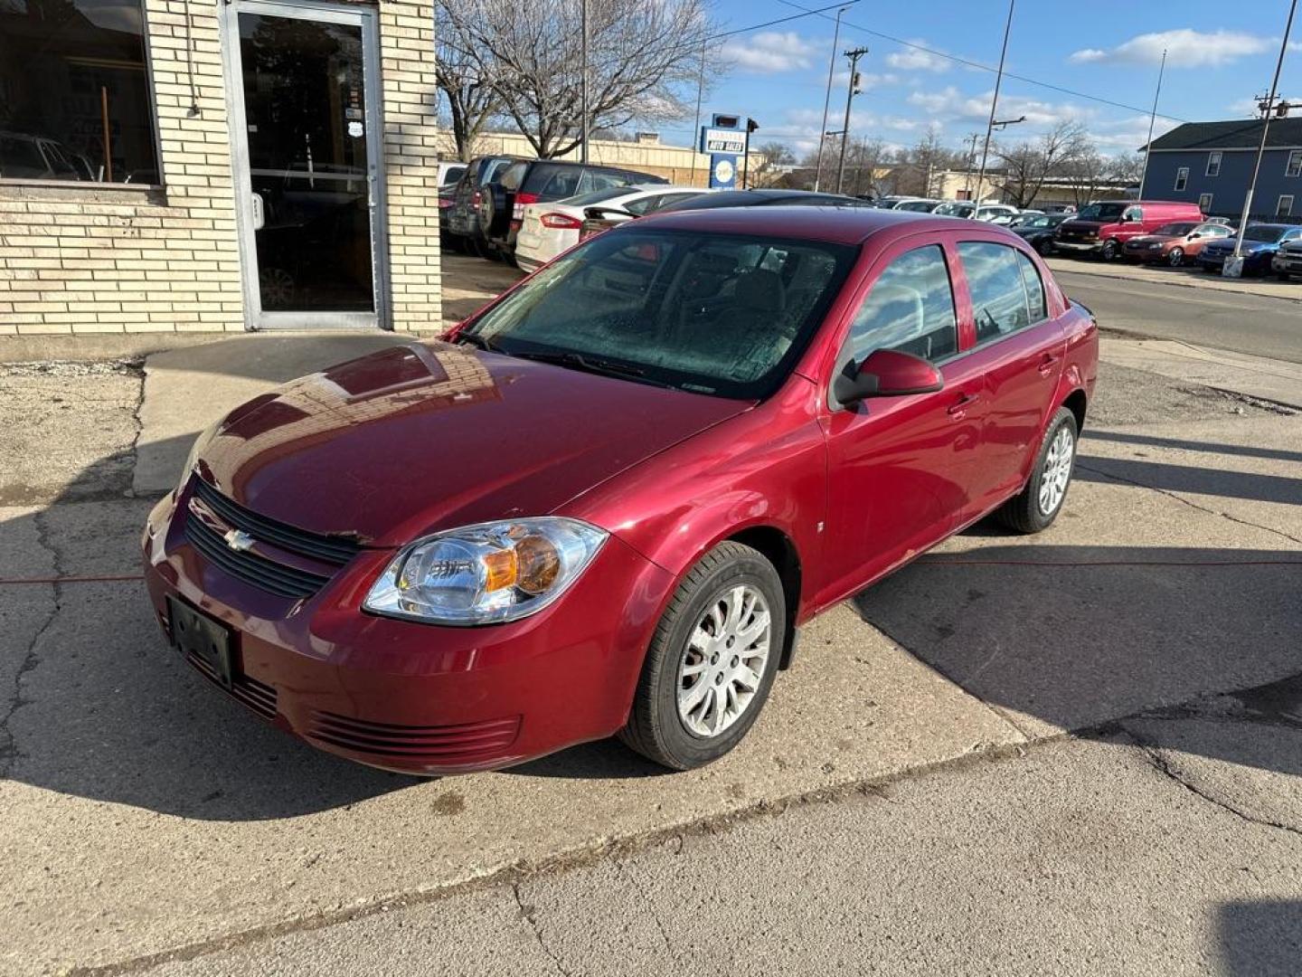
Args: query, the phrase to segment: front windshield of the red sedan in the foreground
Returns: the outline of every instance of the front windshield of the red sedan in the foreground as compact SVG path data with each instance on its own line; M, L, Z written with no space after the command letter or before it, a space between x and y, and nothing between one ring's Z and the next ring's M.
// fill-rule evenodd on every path
M855 249L822 241L621 229L542 268L470 323L508 356L587 363L697 393L772 393L818 328Z

